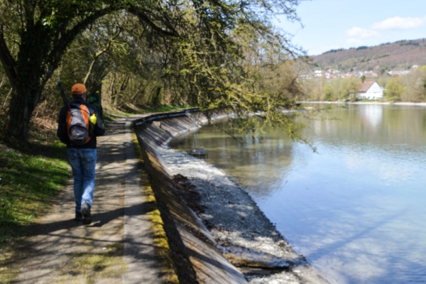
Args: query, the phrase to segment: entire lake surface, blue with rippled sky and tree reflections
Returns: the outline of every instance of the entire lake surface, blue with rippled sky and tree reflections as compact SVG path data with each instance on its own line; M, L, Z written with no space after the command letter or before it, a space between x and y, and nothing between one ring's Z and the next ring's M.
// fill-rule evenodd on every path
M206 148L332 283L426 283L426 107L351 104L307 126L317 153L215 127L170 146Z

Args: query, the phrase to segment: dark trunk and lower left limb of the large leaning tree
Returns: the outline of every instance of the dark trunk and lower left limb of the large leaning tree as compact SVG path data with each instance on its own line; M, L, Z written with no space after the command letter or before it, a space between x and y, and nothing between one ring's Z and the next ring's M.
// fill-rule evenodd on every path
M33 110L67 47L119 6L115 1L29 0L1 1L0 9L0 61L13 88L8 133L25 144Z

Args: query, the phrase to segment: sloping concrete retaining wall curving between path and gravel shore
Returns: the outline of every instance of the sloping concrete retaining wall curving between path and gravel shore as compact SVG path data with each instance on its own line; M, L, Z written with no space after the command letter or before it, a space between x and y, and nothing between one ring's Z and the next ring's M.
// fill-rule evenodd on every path
M214 114L212 119L224 117L226 114L220 113ZM173 178L155 150L167 145L174 136L199 129L207 122L207 117L197 109L190 109L154 114L133 124L180 283L246 283L244 275L217 252L209 231L180 198Z

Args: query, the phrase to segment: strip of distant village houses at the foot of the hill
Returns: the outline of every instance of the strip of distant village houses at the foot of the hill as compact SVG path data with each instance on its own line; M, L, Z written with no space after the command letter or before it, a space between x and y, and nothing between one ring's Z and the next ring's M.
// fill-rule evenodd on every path
M413 70L416 70L418 68L418 65L413 65L413 67L410 68L410 70L403 70L403 71L389 71L387 74L391 76L403 76L408 75ZM347 73L341 73L339 70L315 70L311 72L310 74L303 74L300 75L301 79L314 79L314 78L322 78L325 77L326 79L336 79L336 78L349 78L349 77L367 77L367 78L378 78L378 74L372 70L370 71L359 71L359 72L347 72Z

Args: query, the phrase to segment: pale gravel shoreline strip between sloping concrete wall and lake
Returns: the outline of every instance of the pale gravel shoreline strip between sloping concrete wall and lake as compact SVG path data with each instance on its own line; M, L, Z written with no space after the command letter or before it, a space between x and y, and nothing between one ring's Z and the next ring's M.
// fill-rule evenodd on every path
M181 119L153 121L145 131L136 132L141 144L149 143L153 148L155 159L173 180L171 191L196 214L212 249L235 266L246 283L329 283L291 248L249 193L222 170L168 148L172 138L206 122L202 114L187 114ZM205 247L207 243L197 245Z

